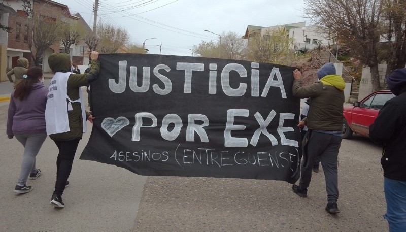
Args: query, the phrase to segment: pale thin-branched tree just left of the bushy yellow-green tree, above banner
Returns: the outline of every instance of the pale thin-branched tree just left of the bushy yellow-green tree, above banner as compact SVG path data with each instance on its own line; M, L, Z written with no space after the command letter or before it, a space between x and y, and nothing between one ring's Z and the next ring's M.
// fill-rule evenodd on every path
M221 35L222 41L220 44L221 57L227 59L243 59L243 51L247 47L247 43L236 32L223 32Z

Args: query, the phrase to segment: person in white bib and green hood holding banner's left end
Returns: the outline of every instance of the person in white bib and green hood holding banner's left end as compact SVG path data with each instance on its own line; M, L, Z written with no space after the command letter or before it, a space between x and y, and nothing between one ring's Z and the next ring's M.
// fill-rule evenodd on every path
M62 193L69 185L69 175L72 163L86 132L86 119L93 123L94 117L85 112L84 97L81 86L95 81L99 75L100 62L98 53L92 52L89 73L75 74L70 71L71 60L68 54L53 53L49 56L48 64L55 73L48 88L45 120L47 134L59 149L56 159L56 182L50 204L63 208Z

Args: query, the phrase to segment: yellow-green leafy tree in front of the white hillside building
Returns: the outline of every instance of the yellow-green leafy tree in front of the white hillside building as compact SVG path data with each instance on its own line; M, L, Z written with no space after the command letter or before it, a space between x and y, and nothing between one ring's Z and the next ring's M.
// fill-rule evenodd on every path
M289 57L293 56L289 38L284 27L266 30L263 35L256 34L250 37L248 44L248 58L255 62L275 63L288 65Z

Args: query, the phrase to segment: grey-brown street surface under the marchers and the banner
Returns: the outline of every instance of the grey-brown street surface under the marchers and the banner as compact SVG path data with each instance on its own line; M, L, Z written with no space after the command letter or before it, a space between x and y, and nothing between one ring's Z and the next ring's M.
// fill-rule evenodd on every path
M47 81L47 80L46 80ZM0 96L10 83L0 83ZM10 84L11 85L11 84ZM12 86L11 86L12 90ZM10 91L11 91L10 90ZM86 92L84 91L86 94ZM49 205L57 149L48 138L37 167L43 172L27 194L13 190L23 147L7 139L8 103L0 103L0 231L388 231L380 166L381 148L367 138L343 140L339 154L339 208L326 213L322 168L313 173L308 197L272 180L143 177L79 160L76 154L64 209ZM90 131L91 125L88 123Z

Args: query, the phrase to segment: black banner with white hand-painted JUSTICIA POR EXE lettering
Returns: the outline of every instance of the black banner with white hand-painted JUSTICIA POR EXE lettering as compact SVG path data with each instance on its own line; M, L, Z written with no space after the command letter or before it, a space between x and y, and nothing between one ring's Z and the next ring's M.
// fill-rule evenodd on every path
M81 159L150 176L299 178L292 67L148 54L99 60Z

